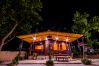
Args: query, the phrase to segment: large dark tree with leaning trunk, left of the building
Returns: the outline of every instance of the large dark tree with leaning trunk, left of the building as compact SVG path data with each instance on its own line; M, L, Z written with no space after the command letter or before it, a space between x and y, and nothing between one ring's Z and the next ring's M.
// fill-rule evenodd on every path
M42 21L41 10L40 0L0 0L0 51L16 35L30 33Z

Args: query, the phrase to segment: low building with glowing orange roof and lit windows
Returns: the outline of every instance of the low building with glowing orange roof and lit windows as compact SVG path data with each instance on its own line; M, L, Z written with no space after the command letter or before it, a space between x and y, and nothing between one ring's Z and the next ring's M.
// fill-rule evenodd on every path
M82 36L81 34L47 31L17 37L30 44L30 55L33 52L47 55L49 51L52 54L69 54L70 43Z

